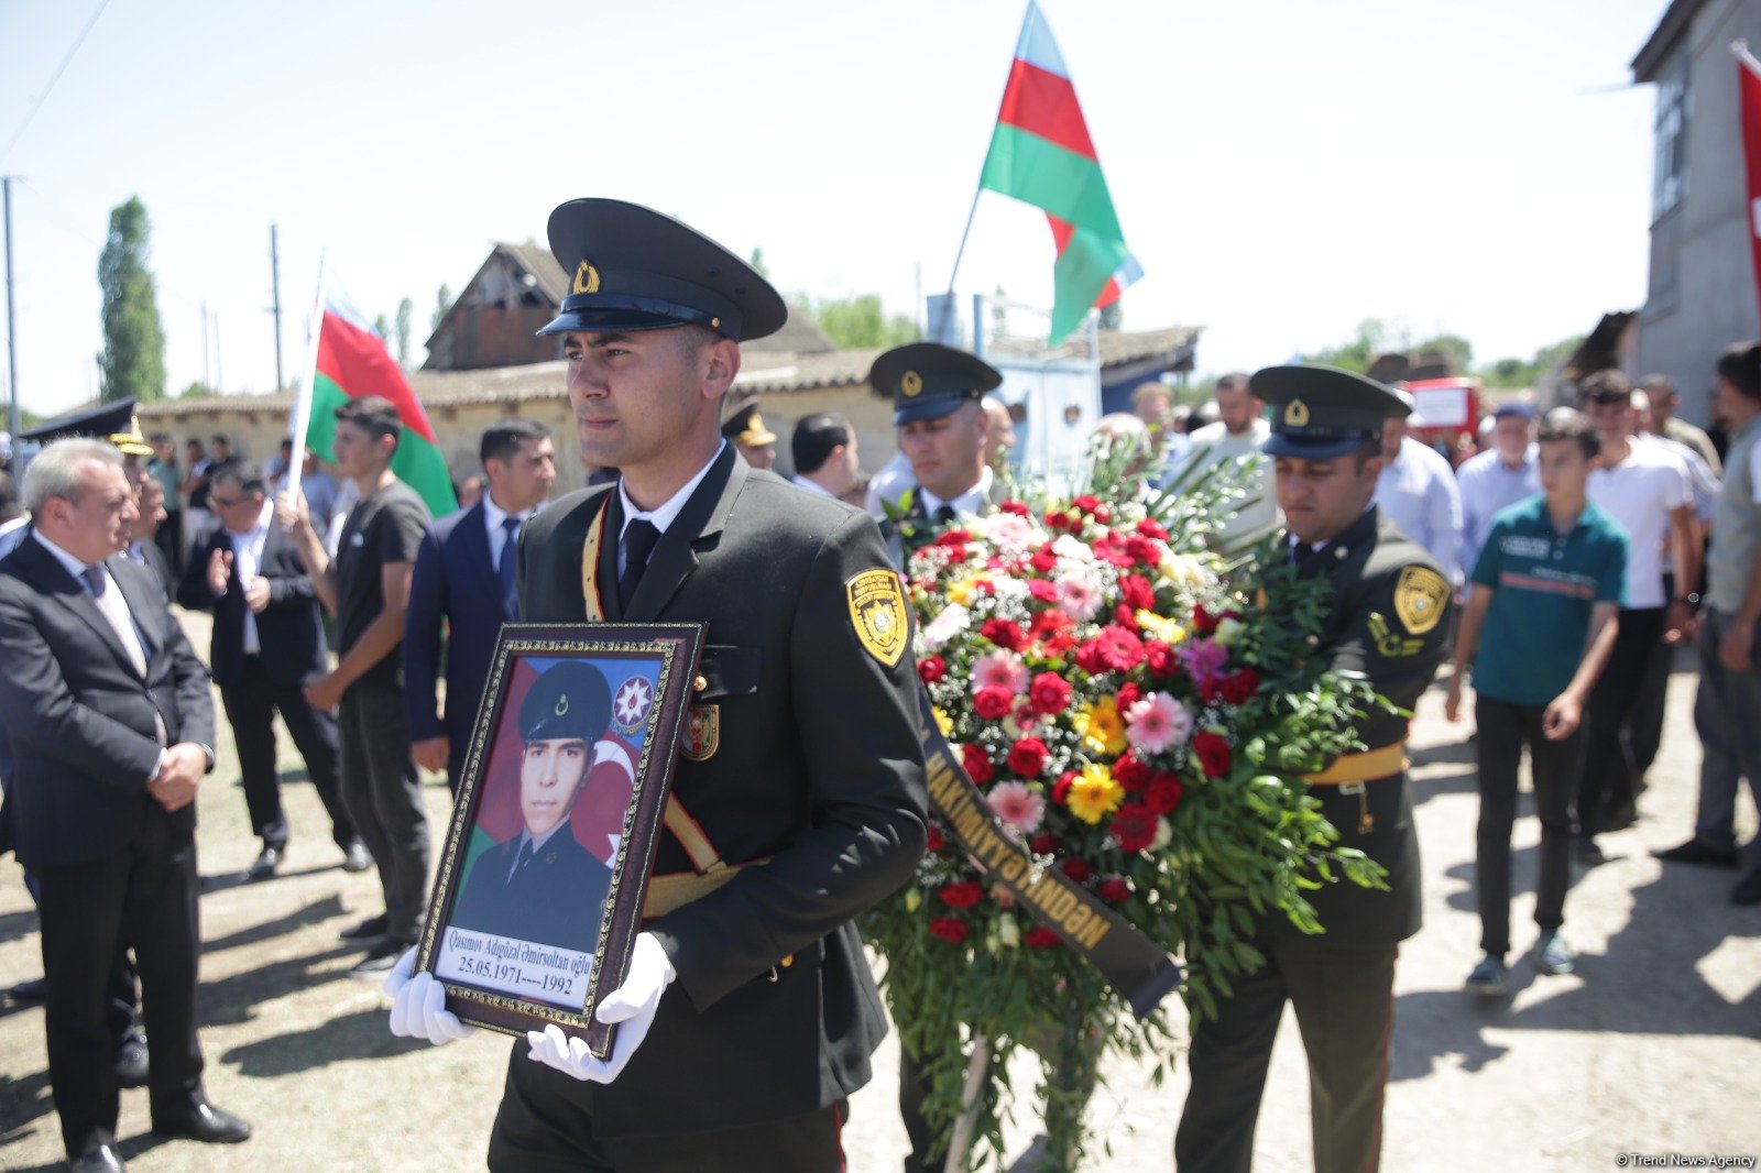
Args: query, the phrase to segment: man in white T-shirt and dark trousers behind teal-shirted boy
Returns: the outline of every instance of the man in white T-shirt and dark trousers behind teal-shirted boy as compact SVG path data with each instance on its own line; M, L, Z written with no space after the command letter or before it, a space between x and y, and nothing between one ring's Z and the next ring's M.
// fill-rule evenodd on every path
M1657 444L1638 444L1632 380L1618 370L1581 384L1583 410L1603 437L1603 463L1588 495L1629 537L1627 599L1608 666L1585 712L1585 756L1578 784L1578 858L1601 863L1595 835L1627 819L1639 777L1631 717L1657 643L1676 643L1694 608L1685 590L1699 581L1699 537L1687 468ZM1673 599L1664 595L1664 553L1675 567ZM1689 585L1689 586L1684 586Z

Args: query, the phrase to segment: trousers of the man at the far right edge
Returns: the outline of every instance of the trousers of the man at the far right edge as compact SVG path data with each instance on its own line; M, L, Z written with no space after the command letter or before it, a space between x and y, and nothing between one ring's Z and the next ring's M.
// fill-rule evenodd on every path
M1719 641L1731 616L1706 609L1699 618L1699 814L1694 838L1708 847L1736 847L1736 784L1749 778L1749 796L1761 808L1761 629L1749 650L1750 668L1733 673L1719 662ZM1749 840L1749 867L1761 867L1761 835Z

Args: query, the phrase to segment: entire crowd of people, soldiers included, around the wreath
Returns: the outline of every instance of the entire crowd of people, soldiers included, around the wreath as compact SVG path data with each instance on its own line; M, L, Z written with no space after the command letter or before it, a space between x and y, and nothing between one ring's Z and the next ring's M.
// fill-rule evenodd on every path
M556 1029L516 1041L490 1162L838 1168L845 1099L884 1032L852 918L910 874L930 817L912 659L865 639L845 590L875 572L896 590L912 550L998 502L1014 444L1002 377L937 343L889 350L870 384L893 403L898 453L865 477L851 421L819 412L792 428L784 479L768 472L780 437L759 403L722 409L740 343L782 326L775 291L713 241L616 201L558 208L551 247L576 273L546 331L565 342L574 440L595 470L585 488L558 493L556 437L505 419L481 437L475 495L433 518L391 470L403 424L377 396L336 409L329 465L292 442L257 465L220 435L187 440L180 463L173 437L130 423L44 447L23 513L0 481L0 826L39 902L46 974L14 997L46 1002L76 1168L122 1168L122 1087L150 1087L155 1131L250 1134L208 1101L194 1027L210 678L261 840L247 879L275 877L292 849L280 715L340 867L377 872L382 911L343 932L361 949L350 972L393 993L393 1030L444 1043L468 1025L414 969L435 833L419 771L460 793L504 623L601 615L710 625L696 703L720 706L718 743L680 763L674 794L718 861L764 867L643 926L599 1011L622 1023L609 1057ZM1534 958L1560 974L1573 867L1599 863L1595 837L1638 817L1685 643L1699 648L1699 821L1659 854L1742 865L1731 900L1761 902L1761 847L1740 856L1733 815L1740 778L1754 787L1761 771L1761 345L1733 347L1717 372L1715 439L1676 416L1668 380L1634 387L1617 370L1583 379L1574 407L1497 405L1476 454L1418 439L1398 387L1315 366L1226 375L1190 410L1145 384L1131 416L1101 421L1152 454L1146 483L1257 460L1259 491L1222 541L1284 534L1287 557L1333 583L1335 666L1396 699L1430 685L1460 608L1446 706L1462 713L1472 673L1485 956L1467 988L1481 995L1506 990L1513 949L1523 749L1543 828ZM601 525L590 599L583 548ZM213 615L206 664L173 602ZM1312 782L1395 891L1317 900L1330 937L1270 941L1263 974L1196 1027L1183 1169L1250 1161L1286 1000L1310 1050L1317 1162L1377 1161L1418 842L1404 731L1382 720L1365 738ZM507 863L497 874L514 882L523 856ZM694 861L666 840L655 867ZM763 1069L731 1083L759 1050ZM907 1057L907 1164L932 1168L914 1078Z

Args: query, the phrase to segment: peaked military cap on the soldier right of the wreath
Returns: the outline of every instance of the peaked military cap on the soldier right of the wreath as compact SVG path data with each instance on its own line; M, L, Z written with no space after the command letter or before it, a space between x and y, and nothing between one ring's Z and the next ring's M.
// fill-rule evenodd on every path
M1275 409L1268 456L1333 460L1381 442L1382 421L1412 410L1374 379L1314 363L1257 370L1249 389Z

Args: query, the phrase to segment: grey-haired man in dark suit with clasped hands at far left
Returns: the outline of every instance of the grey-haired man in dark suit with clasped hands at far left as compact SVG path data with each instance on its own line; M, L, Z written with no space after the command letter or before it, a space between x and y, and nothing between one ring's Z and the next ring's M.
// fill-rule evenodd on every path
M134 521L122 456L46 447L25 477L32 535L0 560L0 722L19 861L37 874L49 1083L74 1168L120 1169L106 985L134 948L153 1129L241 1141L195 1039L195 789L213 768L208 671L164 595L120 558Z

